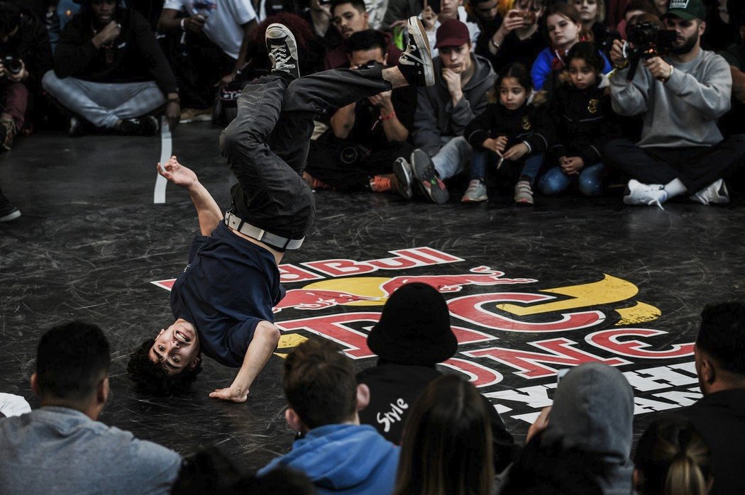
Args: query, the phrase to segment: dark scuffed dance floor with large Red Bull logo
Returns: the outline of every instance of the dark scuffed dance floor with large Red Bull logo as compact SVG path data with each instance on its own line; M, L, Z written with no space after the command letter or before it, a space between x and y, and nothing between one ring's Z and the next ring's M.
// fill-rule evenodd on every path
M173 146L225 208L232 176L217 136L209 124L188 124L176 130ZM175 400L138 396L125 376L138 342L171 322L168 292L150 282L183 269L197 232L183 191L168 188L167 202L153 204L160 153L159 138L46 133L0 156L0 187L23 214L0 225L0 391L37 405L28 377L41 333L73 318L95 322L113 350L113 395L101 421L184 454L219 444L245 467L259 467L291 444L282 357L270 360L244 404L207 397L234 373L211 360L194 394ZM285 333L278 352L326 334L358 357L358 368L373 364L364 332L387 295L380 287L426 276L451 291L444 295L453 325L463 329L448 371L470 373L519 437L551 398L555 370L584 360L627 374L637 432L648 412L691 403L697 382L685 344L703 304L745 296L740 200L724 208L678 202L665 211L624 208L620 197L466 208L321 191L317 208L305 245L284 261L313 280L285 287L302 296L314 284L367 299L316 310L288 304L276 315ZM351 262L384 258L396 260ZM334 259L351 261L311 264ZM390 269L396 264L401 269ZM470 271L478 266L490 270ZM494 271L504 272L501 281ZM523 280L505 285L504 278Z

